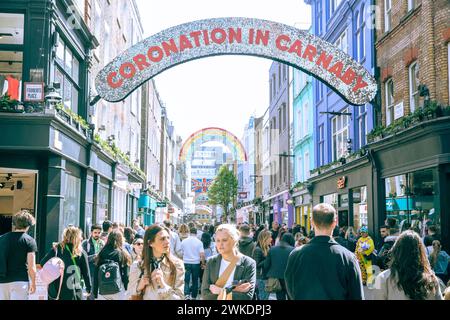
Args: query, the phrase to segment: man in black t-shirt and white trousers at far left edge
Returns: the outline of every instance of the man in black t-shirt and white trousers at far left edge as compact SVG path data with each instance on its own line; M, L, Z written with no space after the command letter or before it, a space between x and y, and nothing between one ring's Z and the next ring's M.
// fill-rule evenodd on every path
M28 300L36 291L36 241L27 232L35 223L27 210L12 218L12 232L0 237L0 300Z

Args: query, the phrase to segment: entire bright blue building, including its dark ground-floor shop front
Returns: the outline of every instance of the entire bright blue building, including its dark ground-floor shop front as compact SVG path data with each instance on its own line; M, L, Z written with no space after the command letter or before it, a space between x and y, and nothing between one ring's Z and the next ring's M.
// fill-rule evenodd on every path
M305 0L312 7L312 33L335 44L375 74L375 32L370 0ZM308 179L313 204L326 202L341 227L369 229L374 215L374 174L365 151L375 124L374 102L353 106L313 80L314 162Z

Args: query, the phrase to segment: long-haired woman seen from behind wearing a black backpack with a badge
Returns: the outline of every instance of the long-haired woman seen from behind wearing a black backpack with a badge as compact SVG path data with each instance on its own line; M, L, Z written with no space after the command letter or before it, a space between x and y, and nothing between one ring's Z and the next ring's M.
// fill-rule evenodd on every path
M124 237L119 230L113 230L96 259L94 296L101 300L126 300L130 265Z

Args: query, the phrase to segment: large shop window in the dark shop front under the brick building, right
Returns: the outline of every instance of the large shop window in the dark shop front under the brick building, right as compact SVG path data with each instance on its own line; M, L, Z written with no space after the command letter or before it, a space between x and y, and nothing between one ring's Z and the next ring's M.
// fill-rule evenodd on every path
M385 179L386 218L400 231L413 229L425 236L431 225L440 229L436 169L415 171Z

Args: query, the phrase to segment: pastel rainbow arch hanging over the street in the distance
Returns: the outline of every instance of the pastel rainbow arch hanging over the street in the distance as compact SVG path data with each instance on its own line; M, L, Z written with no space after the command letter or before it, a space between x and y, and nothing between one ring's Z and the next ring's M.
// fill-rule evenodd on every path
M227 146L230 149L234 160L238 162L247 161L247 152L245 152L241 140L231 132L217 127L203 128L191 134L181 147L179 160L184 162L192 159L194 151L201 145L210 141L221 142Z

